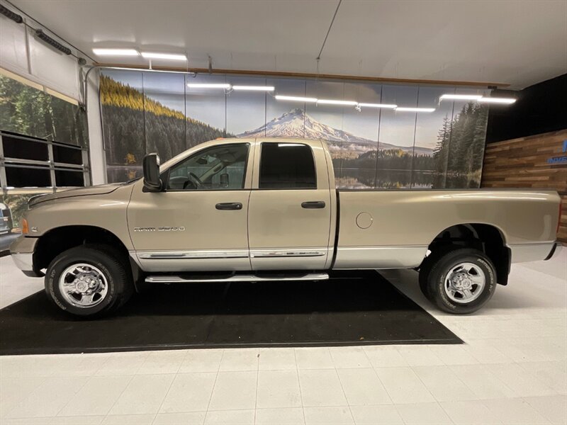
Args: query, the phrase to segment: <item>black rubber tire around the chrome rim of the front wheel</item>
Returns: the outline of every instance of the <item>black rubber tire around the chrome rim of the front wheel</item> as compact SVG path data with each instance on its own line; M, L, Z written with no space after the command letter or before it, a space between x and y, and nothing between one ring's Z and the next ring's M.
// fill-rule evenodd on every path
M74 263L86 263L99 269L108 288L96 305L79 307L60 290L60 277ZM123 305L133 294L132 272L122 252L110 245L86 244L67 249L51 261L45 273L45 292L62 310L81 317L100 317Z

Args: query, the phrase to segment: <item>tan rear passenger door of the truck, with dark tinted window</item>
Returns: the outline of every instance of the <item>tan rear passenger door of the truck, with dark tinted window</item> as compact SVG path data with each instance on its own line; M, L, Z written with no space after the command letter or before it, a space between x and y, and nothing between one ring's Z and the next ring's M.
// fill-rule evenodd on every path
M248 212L253 270L322 270L332 215L320 142L260 142ZM332 255L332 254L331 254Z

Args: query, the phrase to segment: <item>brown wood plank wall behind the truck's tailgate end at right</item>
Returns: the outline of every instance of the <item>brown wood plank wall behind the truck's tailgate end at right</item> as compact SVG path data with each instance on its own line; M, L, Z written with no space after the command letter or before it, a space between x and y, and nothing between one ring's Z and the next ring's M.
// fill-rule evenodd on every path
M481 187L554 189L561 196L558 239L567 244L567 162L549 164L550 158L567 157L563 143L567 129L519 139L489 143L484 153Z

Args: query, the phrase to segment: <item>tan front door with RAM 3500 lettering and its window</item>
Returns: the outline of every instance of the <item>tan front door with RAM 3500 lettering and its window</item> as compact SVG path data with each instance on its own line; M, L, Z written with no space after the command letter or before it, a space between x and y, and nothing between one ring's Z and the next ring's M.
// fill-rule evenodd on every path
M128 206L128 227L144 270L250 270L252 166L247 164L253 146L201 149L169 169L162 192L143 192L143 183L137 183Z

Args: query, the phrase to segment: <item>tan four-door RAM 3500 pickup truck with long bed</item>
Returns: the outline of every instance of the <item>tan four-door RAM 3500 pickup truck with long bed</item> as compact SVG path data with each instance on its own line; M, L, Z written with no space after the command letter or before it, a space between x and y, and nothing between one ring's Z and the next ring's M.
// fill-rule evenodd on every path
M560 198L539 190L337 190L325 142L206 142L143 179L33 198L11 245L47 296L79 316L150 283L325 280L412 268L440 309L478 310L512 261L549 259Z

